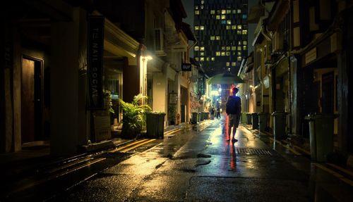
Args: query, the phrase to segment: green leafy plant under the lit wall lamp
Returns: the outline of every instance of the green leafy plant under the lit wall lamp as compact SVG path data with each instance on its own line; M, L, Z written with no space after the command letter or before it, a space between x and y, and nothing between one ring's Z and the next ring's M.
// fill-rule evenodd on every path
M148 97L138 94L133 97L133 101L131 103L119 99L121 108L123 109L123 127L121 130L121 137L126 139L136 138L137 135L145 129L145 113L151 111L152 109L146 104L141 104L143 99L148 99Z

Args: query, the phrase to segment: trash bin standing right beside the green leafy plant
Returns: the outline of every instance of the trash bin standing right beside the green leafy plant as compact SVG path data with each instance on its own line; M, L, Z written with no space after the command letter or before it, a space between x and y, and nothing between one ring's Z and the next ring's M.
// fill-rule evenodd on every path
M164 115L165 113L146 113L147 137L164 138Z

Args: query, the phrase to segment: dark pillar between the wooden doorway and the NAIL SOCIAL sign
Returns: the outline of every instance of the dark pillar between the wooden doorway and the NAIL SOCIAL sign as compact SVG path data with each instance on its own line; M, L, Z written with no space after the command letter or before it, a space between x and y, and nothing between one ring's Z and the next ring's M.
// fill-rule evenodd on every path
M87 61L87 13L73 8L72 20L52 24L51 144L52 155L72 155L87 139L85 86L79 70Z

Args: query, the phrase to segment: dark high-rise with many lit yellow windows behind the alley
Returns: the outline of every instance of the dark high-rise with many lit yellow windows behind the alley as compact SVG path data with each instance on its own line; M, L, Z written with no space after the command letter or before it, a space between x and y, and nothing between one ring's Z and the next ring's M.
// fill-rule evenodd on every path
M248 54L247 0L194 0L194 57L209 75L237 74Z

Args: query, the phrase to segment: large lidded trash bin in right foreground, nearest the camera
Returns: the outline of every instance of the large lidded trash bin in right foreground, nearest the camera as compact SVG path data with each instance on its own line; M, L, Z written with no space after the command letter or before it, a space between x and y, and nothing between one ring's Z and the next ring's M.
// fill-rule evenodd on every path
M335 115L307 115L310 132L311 160L327 161L328 153L333 151L333 122Z

